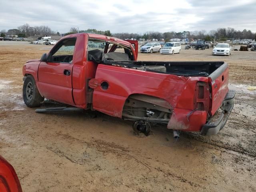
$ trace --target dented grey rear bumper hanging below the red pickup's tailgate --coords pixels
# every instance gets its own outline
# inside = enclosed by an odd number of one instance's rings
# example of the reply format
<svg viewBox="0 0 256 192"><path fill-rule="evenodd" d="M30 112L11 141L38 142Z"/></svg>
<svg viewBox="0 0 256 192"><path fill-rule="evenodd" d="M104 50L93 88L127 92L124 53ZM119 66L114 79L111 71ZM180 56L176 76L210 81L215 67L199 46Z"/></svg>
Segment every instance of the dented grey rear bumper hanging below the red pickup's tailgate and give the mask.
<svg viewBox="0 0 256 192"><path fill-rule="evenodd" d="M228 117L234 107L235 90L229 90L222 102L220 110L218 110L210 120L204 124L201 130L202 135L215 135L226 124Z"/></svg>

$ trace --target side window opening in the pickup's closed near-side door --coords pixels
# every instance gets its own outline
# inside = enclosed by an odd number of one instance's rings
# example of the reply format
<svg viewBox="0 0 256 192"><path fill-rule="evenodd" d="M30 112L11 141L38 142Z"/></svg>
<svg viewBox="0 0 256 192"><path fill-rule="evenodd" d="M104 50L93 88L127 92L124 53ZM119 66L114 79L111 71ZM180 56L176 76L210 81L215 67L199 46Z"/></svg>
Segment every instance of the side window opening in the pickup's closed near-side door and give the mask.
<svg viewBox="0 0 256 192"><path fill-rule="evenodd" d="M49 62L72 63L76 38L64 39L58 43L56 48L52 50L48 56Z"/></svg>

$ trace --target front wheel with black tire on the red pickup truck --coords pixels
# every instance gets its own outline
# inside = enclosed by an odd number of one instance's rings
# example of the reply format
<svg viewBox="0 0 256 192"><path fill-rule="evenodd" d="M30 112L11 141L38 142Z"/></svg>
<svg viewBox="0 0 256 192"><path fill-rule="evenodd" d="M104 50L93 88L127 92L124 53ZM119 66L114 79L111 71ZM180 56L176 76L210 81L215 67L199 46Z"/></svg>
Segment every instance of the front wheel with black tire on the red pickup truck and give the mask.
<svg viewBox="0 0 256 192"><path fill-rule="evenodd" d="M29 75L23 84L23 100L28 107L38 107L44 98L40 95L34 78Z"/></svg>

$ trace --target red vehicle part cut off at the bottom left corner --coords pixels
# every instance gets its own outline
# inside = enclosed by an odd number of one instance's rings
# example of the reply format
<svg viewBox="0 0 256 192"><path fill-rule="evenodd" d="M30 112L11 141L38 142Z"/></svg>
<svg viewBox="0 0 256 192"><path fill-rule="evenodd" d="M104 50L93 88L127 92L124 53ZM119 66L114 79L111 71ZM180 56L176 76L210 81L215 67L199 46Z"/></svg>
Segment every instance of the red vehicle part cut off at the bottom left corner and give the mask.
<svg viewBox="0 0 256 192"><path fill-rule="evenodd" d="M0 192L22 192L14 168L2 156L0 156Z"/></svg>

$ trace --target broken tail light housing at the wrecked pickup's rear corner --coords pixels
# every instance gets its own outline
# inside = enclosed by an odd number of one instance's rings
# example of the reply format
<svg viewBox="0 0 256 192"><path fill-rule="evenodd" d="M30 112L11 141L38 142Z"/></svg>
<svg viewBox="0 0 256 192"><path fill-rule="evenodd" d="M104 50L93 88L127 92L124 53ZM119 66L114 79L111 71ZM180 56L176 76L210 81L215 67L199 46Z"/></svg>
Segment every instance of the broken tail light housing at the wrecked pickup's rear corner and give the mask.
<svg viewBox="0 0 256 192"><path fill-rule="evenodd" d="M194 95L194 109L209 110L210 103L210 90L209 85L206 82L198 81L196 83L195 95Z"/></svg>

